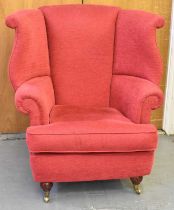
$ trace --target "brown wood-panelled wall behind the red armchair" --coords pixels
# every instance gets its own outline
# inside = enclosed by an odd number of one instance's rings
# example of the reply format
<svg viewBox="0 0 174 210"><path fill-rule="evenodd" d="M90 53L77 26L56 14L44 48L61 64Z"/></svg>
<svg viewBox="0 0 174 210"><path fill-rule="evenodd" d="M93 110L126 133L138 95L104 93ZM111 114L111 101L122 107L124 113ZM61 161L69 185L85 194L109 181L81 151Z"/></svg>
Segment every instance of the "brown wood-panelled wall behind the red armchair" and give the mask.
<svg viewBox="0 0 174 210"><path fill-rule="evenodd" d="M157 32L157 43L164 62L161 88L165 90L168 61L171 0L84 0L84 4L115 5L124 9L140 9L162 15L166 25ZM14 11L37 8L42 5L74 4L81 0L0 0L0 132L22 132L28 126L28 117L19 113L14 105L14 92L8 80L7 66L11 53L14 31L5 26L4 19ZM154 111L152 123L162 126L163 107Z"/></svg>

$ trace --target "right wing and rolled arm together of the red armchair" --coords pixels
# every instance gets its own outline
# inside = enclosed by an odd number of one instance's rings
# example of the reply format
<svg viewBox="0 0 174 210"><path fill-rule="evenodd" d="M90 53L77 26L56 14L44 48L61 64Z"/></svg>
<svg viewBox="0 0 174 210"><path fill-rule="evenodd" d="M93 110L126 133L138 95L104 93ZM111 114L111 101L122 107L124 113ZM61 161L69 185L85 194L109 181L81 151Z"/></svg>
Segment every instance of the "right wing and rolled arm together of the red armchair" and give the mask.
<svg viewBox="0 0 174 210"><path fill-rule="evenodd" d="M117 19L110 106L135 123L150 123L162 103L162 60L156 43L161 16L121 10Z"/></svg>

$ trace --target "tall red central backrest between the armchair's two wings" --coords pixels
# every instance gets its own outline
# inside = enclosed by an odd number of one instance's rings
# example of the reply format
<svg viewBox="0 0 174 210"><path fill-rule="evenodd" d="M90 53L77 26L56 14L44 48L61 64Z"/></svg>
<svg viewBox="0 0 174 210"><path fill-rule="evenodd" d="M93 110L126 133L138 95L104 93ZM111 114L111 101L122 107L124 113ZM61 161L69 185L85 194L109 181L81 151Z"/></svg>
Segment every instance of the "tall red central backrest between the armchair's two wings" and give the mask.
<svg viewBox="0 0 174 210"><path fill-rule="evenodd" d="M109 106L116 7L41 8L56 104Z"/></svg>

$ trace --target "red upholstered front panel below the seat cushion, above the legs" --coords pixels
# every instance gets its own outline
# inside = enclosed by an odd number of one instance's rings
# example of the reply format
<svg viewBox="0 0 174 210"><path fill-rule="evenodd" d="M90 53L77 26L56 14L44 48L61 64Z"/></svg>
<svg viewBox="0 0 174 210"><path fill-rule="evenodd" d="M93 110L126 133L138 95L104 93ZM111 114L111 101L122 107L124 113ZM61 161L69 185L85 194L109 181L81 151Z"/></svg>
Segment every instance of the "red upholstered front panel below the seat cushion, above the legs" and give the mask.
<svg viewBox="0 0 174 210"><path fill-rule="evenodd" d="M125 179L145 176L151 171L151 152L30 154L36 182L73 182Z"/></svg>

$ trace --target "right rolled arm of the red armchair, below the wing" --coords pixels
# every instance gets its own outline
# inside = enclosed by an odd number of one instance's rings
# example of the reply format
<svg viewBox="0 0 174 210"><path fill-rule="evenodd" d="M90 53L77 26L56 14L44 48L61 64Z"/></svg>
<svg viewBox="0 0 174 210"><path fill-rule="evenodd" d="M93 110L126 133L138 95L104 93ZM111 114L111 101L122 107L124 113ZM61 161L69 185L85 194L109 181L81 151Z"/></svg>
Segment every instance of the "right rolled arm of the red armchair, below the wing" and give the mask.
<svg viewBox="0 0 174 210"><path fill-rule="evenodd" d="M133 76L113 76L110 106L133 122L149 123L151 111L159 108L162 101L163 93L156 84Z"/></svg>

